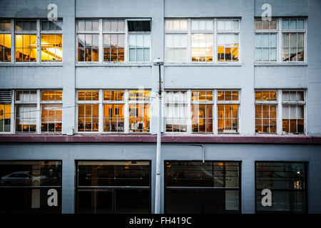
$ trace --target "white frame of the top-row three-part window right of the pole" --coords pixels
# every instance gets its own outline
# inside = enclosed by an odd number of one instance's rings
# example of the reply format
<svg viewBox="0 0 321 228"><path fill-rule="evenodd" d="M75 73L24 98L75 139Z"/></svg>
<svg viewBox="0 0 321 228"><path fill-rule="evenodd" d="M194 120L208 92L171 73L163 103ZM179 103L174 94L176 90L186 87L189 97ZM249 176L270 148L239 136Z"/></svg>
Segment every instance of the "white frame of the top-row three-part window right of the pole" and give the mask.
<svg viewBox="0 0 321 228"><path fill-rule="evenodd" d="M166 28L165 28L165 21L168 20L168 21L180 21L180 20L187 20L187 30L186 31L166 31ZM192 30L192 21L213 21L213 30L200 30L200 31L195 31L195 30ZM230 30L230 31L218 31L217 29L217 21L218 20L226 20L226 21L230 21L230 20L238 20L238 30ZM163 53L164 53L164 56L165 56L165 51L166 51L166 43L165 43L165 36L166 34L187 34L187 42L188 42L188 46L187 46L187 53L186 53L186 59L187 61L185 62L168 62L166 61L165 59L165 64L184 64L184 63L193 63L193 64L213 64L213 63L223 63L223 64L226 64L226 63L237 63L239 64L240 63L240 26L241 26L241 23L240 23L240 19L233 19L233 18L227 18L227 19L216 19L216 18L196 18L196 19L178 19L178 18L175 18L175 19L171 19L171 18L165 18L164 19L164 35L163 35L163 39L164 39L164 46L163 46ZM203 61L203 62L193 62L192 61L192 34L195 34L195 33L210 33L210 34L213 34L213 61L209 61L209 62L206 62L206 61ZM238 33L238 61L218 61L218 33Z"/></svg>

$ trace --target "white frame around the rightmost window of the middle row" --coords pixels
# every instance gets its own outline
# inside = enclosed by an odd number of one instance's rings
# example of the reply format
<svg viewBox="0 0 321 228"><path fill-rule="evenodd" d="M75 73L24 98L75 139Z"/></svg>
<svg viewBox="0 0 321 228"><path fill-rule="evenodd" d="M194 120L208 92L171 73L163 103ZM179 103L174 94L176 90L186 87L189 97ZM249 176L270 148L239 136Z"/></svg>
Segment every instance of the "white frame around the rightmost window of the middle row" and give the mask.
<svg viewBox="0 0 321 228"><path fill-rule="evenodd" d="M299 90L296 90L296 89L283 89L283 90L279 90L281 93L280 94L280 103L282 104L282 108L280 108L280 123L282 124L280 126L280 131L281 131L281 134L282 135L307 135L307 90L302 90L302 89L299 89ZM286 100L283 100L283 92L303 92L303 98L304 100L295 100L295 101L286 101ZM283 132L283 105L303 105L303 110L304 110L304 132L303 133L296 133L296 134L293 134L293 133L285 133ZM290 119L290 118L289 118Z"/></svg>

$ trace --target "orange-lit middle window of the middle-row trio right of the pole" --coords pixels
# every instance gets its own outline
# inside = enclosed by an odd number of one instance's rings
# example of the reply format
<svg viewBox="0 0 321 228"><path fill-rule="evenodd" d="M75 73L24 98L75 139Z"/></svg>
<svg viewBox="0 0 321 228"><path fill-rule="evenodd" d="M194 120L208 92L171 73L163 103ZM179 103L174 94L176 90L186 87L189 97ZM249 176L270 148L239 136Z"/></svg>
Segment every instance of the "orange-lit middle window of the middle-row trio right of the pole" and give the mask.
<svg viewBox="0 0 321 228"><path fill-rule="evenodd" d="M192 91L192 132L213 133L213 91Z"/></svg>

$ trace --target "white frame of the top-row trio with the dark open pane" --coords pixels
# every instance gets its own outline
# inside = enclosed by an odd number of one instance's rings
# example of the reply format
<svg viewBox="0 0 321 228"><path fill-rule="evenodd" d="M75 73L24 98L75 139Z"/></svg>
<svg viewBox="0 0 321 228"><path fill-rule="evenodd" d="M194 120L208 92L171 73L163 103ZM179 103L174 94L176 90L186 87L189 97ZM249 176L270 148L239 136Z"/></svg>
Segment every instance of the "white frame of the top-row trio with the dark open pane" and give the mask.
<svg viewBox="0 0 321 228"><path fill-rule="evenodd" d="M98 21L98 31L78 31L78 21ZM103 31L103 21L124 21L125 31ZM128 31L127 21L151 21L151 19L124 19L124 18L104 18L104 19L76 19L76 63L78 66L83 65L121 65L121 64L150 64L151 63L151 49L152 49L152 23L151 23L151 31ZM98 61L78 61L78 34L98 34L99 35L99 52L98 52ZM124 61L116 62L116 61L103 61L103 35L104 34L125 34L125 43L124 43ZM149 34L149 61L129 61L129 35L130 34Z"/></svg>

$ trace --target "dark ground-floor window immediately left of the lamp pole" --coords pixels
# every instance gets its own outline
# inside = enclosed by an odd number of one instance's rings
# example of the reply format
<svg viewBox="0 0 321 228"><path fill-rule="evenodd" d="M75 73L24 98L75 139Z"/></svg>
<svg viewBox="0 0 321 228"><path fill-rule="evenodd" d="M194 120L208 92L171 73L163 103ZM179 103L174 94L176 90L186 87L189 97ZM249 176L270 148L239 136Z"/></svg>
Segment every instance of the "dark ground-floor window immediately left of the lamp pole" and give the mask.
<svg viewBox="0 0 321 228"><path fill-rule="evenodd" d="M78 161L76 213L151 213L151 162Z"/></svg>

